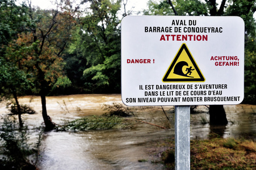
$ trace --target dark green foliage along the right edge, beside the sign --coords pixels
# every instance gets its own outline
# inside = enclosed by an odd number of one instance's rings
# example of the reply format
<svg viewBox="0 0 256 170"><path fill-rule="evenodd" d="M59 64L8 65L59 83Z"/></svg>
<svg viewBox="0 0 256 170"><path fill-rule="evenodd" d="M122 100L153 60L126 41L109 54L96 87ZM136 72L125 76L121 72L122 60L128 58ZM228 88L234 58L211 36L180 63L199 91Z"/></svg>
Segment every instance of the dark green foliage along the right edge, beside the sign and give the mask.
<svg viewBox="0 0 256 170"><path fill-rule="evenodd" d="M253 18L255 1L233 1L226 15L240 16L245 22L245 99L244 103L256 103L256 22Z"/></svg>

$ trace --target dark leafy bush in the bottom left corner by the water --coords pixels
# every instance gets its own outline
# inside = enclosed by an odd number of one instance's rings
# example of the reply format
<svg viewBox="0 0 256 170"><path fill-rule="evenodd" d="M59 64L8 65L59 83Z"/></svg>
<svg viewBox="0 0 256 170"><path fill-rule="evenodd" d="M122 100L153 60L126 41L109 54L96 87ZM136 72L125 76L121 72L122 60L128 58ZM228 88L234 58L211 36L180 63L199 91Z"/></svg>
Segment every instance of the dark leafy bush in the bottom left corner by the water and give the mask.
<svg viewBox="0 0 256 170"><path fill-rule="evenodd" d="M36 163L41 134L34 146L28 143L28 135L27 126L19 129L19 124L14 117L3 117L0 126L1 169L36 169L31 162Z"/></svg>

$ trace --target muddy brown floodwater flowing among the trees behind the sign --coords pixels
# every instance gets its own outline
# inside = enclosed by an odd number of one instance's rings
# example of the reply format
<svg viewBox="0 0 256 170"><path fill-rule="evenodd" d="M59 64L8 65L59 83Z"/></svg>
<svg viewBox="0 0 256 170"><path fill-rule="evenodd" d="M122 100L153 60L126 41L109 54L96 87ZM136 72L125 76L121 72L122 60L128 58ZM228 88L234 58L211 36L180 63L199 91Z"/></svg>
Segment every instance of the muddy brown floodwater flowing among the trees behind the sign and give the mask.
<svg viewBox="0 0 256 170"><path fill-rule="evenodd" d="M20 104L27 104L37 114L25 114L28 126L43 125L41 101L38 96L19 98ZM66 120L75 120L90 115L105 113L102 105L120 103L120 94L110 95L69 95L47 97L48 115L56 124ZM199 106L191 114L191 139L207 139L211 132L224 138L256 139L256 105L225 105L228 125L210 126L208 108ZM137 123L134 129L125 130L89 130L77 132L50 131L43 134L39 162L43 169L163 169L161 164L152 163L158 155L150 154L158 141L174 137L174 107L135 109L135 117L169 129ZM6 102L0 103L1 114L8 112ZM32 136L31 140L35 140ZM139 162L139 160L144 160Z"/></svg>

